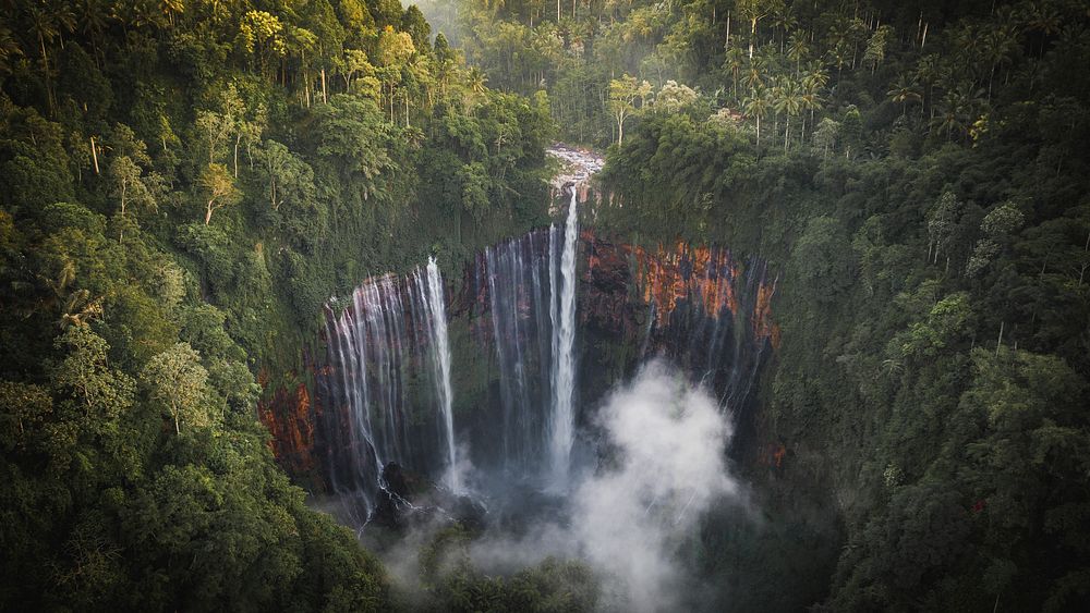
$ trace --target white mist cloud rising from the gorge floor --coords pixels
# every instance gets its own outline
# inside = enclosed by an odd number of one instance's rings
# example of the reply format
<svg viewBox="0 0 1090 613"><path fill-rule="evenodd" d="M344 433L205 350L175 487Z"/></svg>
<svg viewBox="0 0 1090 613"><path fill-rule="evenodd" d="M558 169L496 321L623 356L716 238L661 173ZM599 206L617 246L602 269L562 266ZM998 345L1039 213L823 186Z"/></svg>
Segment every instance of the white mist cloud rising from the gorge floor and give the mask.
<svg viewBox="0 0 1090 613"><path fill-rule="evenodd" d="M602 577L605 609L677 609L686 579L678 548L712 505L739 492L725 459L730 422L706 390L656 360L608 396L596 425L603 466L572 488L566 525L486 536L470 555L500 573L550 555L582 559Z"/></svg>

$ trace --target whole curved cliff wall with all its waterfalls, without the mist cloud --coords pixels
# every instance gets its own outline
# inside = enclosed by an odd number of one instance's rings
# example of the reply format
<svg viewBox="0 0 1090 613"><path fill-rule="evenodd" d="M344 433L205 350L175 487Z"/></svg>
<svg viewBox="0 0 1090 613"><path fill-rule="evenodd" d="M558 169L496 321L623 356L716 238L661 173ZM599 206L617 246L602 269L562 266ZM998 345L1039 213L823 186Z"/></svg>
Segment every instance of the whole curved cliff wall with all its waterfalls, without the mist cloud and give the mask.
<svg viewBox="0 0 1090 613"><path fill-rule="evenodd" d="M717 246L580 235L576 194L568 205L562 224L486 248L453 287L428 259L326 305L314 439L350 524L387 500L391 462L455 492L565 489L582 457L580 406L596 406L615 372L656 356L715 390L722 409L746 410L778 339L766 265ZM472 488L459 480L462 463Z"/></svg>

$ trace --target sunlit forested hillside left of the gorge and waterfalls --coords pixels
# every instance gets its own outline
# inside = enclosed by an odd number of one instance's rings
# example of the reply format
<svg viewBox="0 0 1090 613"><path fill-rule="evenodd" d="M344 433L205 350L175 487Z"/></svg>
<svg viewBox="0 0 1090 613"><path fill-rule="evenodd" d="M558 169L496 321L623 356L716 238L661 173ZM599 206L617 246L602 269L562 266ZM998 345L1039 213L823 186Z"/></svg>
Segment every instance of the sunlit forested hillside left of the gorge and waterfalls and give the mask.
<svg viewBox="0 0 1090 613"><path fill-rule="evenodd" d="M547 100L471 82L396 1L10 9L0 609L389 610L277 468L255 373L300 369L368 271L541 222ZM441 186L470 164L463 237Z"/></svg>

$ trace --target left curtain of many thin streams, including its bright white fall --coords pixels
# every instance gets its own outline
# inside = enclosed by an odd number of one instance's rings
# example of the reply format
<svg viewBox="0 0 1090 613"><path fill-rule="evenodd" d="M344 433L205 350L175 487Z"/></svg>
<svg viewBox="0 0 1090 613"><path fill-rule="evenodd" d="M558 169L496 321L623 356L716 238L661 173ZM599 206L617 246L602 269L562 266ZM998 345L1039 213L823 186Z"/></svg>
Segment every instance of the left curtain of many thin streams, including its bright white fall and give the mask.
<svg viewBox="0 0 1090 613"><path fill-rule="evenodd" d="M332 490L355 501L351 513L363 520L391 462L422 474L445 471L446 485L458 491L451 352L435 259L404 278L367 280L339 315L330 305L327 354L337 377L328 383L329 400L342 416L327 428Z"/></svg>

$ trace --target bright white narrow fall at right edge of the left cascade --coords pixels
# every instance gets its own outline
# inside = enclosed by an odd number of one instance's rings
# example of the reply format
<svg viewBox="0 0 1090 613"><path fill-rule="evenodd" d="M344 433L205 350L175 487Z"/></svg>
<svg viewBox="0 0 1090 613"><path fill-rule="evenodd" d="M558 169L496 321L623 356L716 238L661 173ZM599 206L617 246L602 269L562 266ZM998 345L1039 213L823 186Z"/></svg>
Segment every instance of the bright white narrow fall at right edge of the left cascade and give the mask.
<svg viewBox="0 0 1090 613"><path fill-rule="evenodd" d="M439 400L439 412L443 415L443 433L447 443L447 487L453 491L461 490L458 476L458 463L455 457L455 416L453 391L450 388L450 340L447 335L447 305L443 298L443 277L435 258L427 259L426 278L416 272L416 283L420 293L426 296L428 331L432 341L432 369L436 392Z"/></svg>

